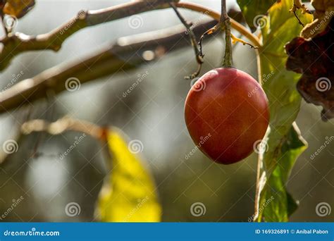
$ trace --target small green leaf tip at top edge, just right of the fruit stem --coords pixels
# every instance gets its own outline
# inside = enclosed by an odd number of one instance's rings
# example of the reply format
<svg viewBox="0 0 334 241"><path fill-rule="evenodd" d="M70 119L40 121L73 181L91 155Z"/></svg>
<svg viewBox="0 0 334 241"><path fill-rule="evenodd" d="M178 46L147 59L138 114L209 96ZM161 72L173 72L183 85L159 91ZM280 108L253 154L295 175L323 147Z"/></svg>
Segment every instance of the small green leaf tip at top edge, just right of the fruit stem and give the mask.
<svg viewBox="0 0 334 241"><path fill-rule="evenodd" d="M268 9L276 0L237 0L243 16L251 29L261 25L261 16L265 15Z"/></svg>

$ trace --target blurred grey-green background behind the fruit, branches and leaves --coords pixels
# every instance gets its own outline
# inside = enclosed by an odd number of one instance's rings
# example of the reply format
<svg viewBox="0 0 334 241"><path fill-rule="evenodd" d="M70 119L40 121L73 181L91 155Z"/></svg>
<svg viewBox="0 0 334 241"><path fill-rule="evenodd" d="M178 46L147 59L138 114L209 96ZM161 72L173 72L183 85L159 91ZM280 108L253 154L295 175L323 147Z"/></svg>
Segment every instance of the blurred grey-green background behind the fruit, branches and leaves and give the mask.
<svg viewBox="0 0 334 241"><path fill-rule="evenodd" d="M126 1L38 1L35 8L18 21L16 30L37 35L53 30L75 16L81 9L99 9ZM193 1L220 11L219 1ZM228 1L229 8L238 8ZM199 13L181 10L187 20L202 20ZM171 9L143 13L140 27L133 28L128 18L97 25L77 32L66 40L57 53L37 51L13 58L11 66L0 74L0 89L9 83L32 78L59 63L78 61L94 54L118 37L159 30L180 24ZM208 18L209 19L209 18ZM3 35L4 32L1 32ZM202 73L220 66L223 40L211 37L204 44L205 63ZM219 51L217 51L219 49ZM254 51L237 44L233 51L235 67L256 78ZM101 78L81 85L75 92L62 92L38 101L30 119L56 121L65 115L96 123L114 125L132 140L144 144L143 156L149 163L163 206L163 221L246 221L254 211L256 154L230 166L209 161L196 151L189 159L194 143L183 117L183 106L190 80L184 76L197 68L191 47L173 51L159 61L131 71ZM140 85L123 97L137 80ZM24 108L23 108L24 109ZM1 114L0 143L13 139L24 122L24 111ZM316 205L334 204L334 142L311 158L334 135L333 120L321 121L316 106L302 102L297 118L309 148L299 157L287 188L300 202L291 221L333 221L332 214L321 217ZM16 202L20 204L1 221L92 221L97 195L106 175L101 144L92 137L84 140L64 159L59 154L78 140L82 133L66 132L51 136L35 133L20 138L18 152L0 166L0 214ZM36 152L37 155L31 157ZM79 216L66 216L66 204L77 202ZM205 205L203 216L192 216L190 206Z"/></svg>

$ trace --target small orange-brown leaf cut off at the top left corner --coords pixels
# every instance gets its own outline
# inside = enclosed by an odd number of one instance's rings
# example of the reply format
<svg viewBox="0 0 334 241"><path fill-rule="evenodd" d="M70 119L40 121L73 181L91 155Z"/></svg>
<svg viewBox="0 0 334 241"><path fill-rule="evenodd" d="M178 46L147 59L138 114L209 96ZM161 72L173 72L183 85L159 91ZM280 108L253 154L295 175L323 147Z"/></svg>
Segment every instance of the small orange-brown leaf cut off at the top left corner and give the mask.
<svg viewBox="0 0 334 241"><path fill-rule="evenodd" d="M35 5L35 0L7 0L3 12L21 18Z"/></svg>

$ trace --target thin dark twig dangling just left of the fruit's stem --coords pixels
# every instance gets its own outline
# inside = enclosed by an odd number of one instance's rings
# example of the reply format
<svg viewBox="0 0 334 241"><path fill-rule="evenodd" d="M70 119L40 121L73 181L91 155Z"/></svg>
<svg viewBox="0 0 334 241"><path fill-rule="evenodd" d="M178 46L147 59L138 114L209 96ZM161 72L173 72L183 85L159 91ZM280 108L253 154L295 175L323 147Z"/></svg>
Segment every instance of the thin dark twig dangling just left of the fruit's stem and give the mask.
<svg viewBox="0 0 334 241"><path fill-rule="evenodd" d="M196 72L192 73L192 75L185 76L185 79L191 80L193 78L196 78L199 75L201 68L202 68L202 64L204 63L204 60L203 60L204 55L202 54L202 42L201 42L201 46L199 46L199 44L197 43L196 36L194 35L194 32L192 32L192 24L187 23L187 20L183 18L181 13L178 11L178 8L175 6L175 4L171 3L170 5L175 11L176 16L178 16L178 18L180 19L181 23L185 25L185 28L187 29L187 34L189 35L190 41L192 42L192 47L194 48L194 53L196 56L198 67L197 67Z"/></svg>

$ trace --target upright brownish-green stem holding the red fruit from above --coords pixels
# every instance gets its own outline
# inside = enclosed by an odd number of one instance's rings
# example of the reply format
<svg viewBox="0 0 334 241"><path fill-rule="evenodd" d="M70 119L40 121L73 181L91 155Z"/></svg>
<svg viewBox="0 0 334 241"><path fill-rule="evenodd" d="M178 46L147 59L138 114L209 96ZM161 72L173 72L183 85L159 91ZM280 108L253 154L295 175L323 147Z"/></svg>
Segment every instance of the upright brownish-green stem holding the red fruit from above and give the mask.
<svg viewBox="0 0 334 241"><path fill-rule="evenodd" d="M226 0L221 0L221 30L225 29L225 56L223 67L232 67L231 22L226 9Z"/></svg>

